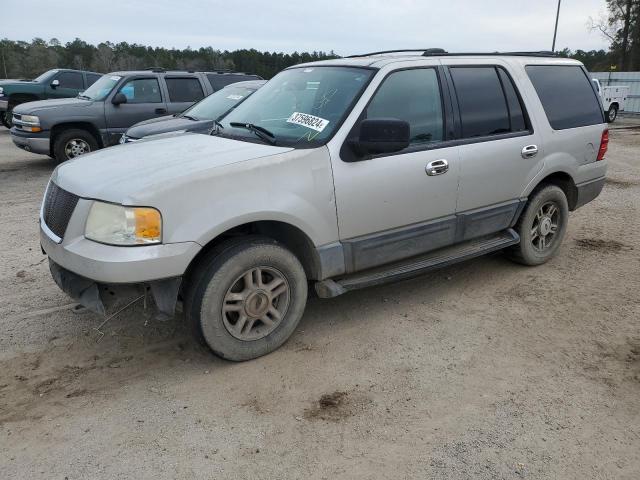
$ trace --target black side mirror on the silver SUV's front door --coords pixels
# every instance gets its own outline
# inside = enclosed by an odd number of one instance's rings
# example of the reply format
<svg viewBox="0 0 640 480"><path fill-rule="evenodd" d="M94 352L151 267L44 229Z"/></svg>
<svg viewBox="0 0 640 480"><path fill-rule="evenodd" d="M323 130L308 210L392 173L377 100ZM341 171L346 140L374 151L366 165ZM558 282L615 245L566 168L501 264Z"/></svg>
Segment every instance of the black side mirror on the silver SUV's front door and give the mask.
<svg viewBox="0 0 640 480"><path fill-rule="evenodd" d="M360 135L350 141L359 156L399 152L409 146L409 122L396 118L375 118L360 123Z"/></svg>

